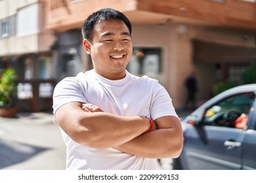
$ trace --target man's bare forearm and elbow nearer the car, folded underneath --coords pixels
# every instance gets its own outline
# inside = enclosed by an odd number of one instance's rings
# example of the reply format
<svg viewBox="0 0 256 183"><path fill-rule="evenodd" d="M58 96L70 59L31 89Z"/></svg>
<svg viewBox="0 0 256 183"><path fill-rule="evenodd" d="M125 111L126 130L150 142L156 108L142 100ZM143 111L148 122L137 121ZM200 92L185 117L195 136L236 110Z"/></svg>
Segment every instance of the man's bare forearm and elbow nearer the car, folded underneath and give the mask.
<svg viewBox="0 0 256 183"><path fill-rule="evenodd" d="M144 158L177 158L183 145L182 128L178 118L166 116L156 121L160 129L142 134L114 148Z"/></svg>

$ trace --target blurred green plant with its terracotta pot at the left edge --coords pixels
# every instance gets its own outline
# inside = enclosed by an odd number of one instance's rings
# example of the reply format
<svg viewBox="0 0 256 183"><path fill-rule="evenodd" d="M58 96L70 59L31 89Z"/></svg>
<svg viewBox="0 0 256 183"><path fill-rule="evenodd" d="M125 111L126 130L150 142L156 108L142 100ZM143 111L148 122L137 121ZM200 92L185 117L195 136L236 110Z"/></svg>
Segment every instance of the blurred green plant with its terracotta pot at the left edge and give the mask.
<svg viewBox="0 0 256 183"><path fill-rule="evenodd" d="M3 70L0 76L0 116L12 118L17 112L17 81L14 69Z"/></svg>

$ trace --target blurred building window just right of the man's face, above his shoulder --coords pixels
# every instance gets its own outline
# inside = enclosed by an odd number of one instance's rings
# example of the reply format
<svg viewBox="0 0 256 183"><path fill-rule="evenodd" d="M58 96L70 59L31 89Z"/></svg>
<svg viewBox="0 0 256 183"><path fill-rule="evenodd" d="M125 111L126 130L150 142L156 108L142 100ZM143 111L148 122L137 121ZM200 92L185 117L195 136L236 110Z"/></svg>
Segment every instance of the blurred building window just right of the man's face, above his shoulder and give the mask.
<svg viewBox="0 0 256 183"><path fill-rule="evenodd" d="M133 48L133 56L127 70L137 76L161 75L161 48Z"/></svg>

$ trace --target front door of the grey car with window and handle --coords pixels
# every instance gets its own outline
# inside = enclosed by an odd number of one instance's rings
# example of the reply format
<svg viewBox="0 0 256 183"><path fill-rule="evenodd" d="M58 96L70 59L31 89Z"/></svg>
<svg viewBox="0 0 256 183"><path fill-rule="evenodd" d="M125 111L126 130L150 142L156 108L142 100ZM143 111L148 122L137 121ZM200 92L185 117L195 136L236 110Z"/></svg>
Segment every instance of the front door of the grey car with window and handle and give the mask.
<svg viewBox="0 0 256 183"><path fill-rule="evenodd" d="M240 93L205 107L200 124L190 125L184 134L188 169L242 169L246 130L232 123L241 114L250 115L254 99L254 93Z"/></svg>

